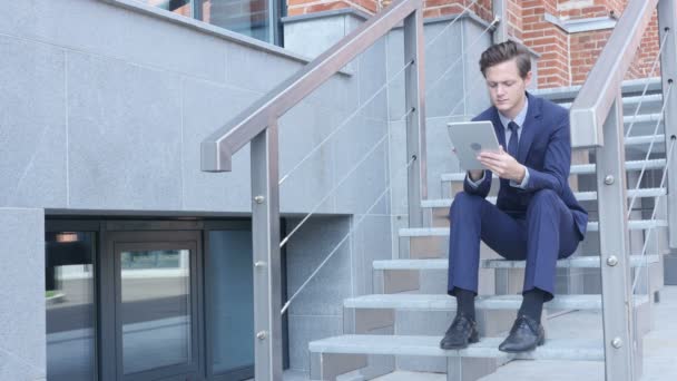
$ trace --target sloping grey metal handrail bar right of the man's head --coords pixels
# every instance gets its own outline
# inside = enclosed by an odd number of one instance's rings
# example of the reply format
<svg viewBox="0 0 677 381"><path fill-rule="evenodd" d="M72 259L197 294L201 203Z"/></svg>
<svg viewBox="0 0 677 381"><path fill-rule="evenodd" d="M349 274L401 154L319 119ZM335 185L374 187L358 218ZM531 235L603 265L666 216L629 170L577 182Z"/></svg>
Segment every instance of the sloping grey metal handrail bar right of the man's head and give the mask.
<svg viewBox="0 0 677 381"><path fill-rule="evenodd" d="M571 146L604 146L602 125L658 0L630 0L570 110Z"/></svg>

